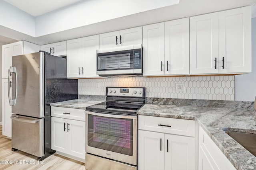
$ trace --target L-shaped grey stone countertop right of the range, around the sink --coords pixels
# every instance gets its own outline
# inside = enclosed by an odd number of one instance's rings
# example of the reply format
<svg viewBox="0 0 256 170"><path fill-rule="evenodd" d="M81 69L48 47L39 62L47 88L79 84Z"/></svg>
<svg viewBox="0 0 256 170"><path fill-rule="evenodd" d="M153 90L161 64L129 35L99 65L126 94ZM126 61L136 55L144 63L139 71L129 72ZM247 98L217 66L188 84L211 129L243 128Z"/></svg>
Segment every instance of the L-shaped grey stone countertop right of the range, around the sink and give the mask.
<svg viewBox="0 0 256 170"><path fill-rule="evenodd" d="M196 120L236 169L256 169L256 157L223 131L256 134L254 109L145 104L138 115Z"/></svg>

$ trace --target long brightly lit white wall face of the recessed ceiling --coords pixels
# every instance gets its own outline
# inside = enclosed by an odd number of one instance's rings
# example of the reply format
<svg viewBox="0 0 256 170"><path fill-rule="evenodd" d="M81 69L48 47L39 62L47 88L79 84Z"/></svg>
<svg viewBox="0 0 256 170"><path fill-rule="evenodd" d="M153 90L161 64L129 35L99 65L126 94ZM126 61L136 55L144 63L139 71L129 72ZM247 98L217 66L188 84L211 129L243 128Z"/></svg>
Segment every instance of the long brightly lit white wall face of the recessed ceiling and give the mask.
<svg viewBox="0 0 256 170"><path fill-rule="evenodd" d="M36 36L129 16L178 2L179 0L84 0L37 16ZM116 23L118 24L121 23Z"/></svg>

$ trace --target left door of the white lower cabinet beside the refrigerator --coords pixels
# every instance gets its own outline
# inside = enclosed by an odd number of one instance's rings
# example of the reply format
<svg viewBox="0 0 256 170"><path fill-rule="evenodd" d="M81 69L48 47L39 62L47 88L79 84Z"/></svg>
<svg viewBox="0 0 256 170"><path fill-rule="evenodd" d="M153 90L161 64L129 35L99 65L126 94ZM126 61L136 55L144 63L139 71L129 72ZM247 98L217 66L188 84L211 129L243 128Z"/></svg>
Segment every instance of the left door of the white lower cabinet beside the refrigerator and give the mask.
<svg viewBox="0 0 256 170"><path fill-rule="evenodd" d="M67 119L52 117L52 149L68 152Z"/></svg>

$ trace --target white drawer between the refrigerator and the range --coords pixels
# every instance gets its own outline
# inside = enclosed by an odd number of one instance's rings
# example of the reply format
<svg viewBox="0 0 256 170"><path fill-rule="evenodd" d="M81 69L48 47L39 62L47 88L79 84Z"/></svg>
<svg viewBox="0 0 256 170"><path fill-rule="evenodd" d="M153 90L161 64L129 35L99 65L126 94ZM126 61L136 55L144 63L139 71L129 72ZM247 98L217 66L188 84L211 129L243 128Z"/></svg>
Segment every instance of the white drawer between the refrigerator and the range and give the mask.
<svg viewBox="0 0 256 170"><path fill-rule="evenodd" d="M52 116L85 121L85 109L52 106Z"/></svg>

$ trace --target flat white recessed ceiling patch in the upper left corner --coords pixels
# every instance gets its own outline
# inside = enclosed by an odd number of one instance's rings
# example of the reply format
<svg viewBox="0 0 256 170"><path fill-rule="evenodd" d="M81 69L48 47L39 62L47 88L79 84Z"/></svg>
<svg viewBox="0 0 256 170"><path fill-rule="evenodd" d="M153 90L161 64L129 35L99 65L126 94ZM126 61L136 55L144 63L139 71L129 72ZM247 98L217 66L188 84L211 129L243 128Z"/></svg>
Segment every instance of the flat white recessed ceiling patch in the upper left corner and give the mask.
<svg viewBox="0 0 256 170"><path fill-rule="evenodd" d="M19 8L20 10L32 15L40 16L82 0L4 0Z"/></svg>

